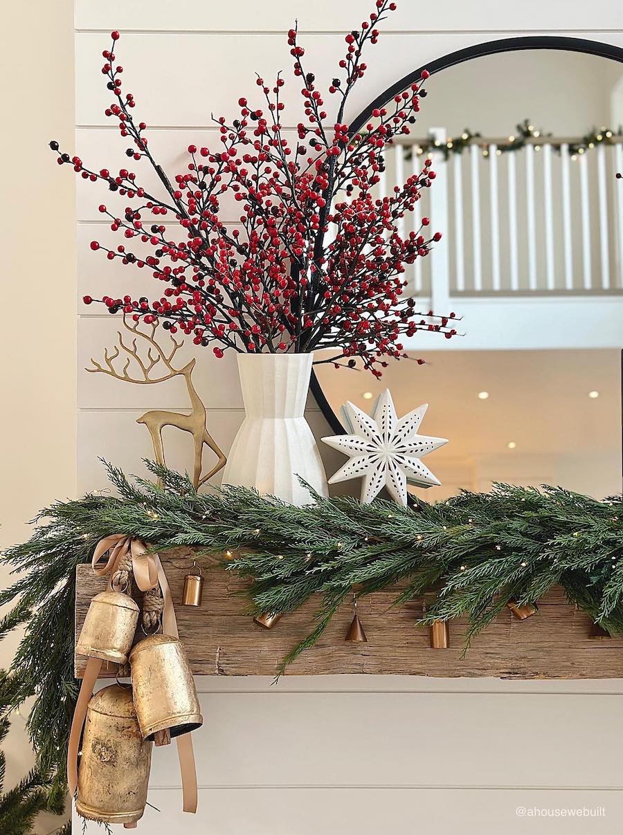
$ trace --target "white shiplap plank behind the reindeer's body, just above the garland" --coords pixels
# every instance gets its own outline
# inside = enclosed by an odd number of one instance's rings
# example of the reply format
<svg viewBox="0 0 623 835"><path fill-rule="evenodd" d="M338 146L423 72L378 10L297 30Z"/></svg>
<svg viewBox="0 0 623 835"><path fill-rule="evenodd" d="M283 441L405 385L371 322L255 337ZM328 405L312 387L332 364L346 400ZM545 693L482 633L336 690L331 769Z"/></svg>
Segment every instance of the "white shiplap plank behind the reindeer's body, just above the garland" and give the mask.
<svg viewBox="0 0 623 835"><path fill-rule="evenodd" d="M119 383L121 386L122 383ZM137 386L138 388L138 386ZM312 400L311 400L312 402ZM183 404L178 403L177 406ZM121 466L126 473L149 476L144 468L144 458L154 458L147 429L136 423L144 410L81 410L78 414L78 491L88 493L94 490L108 490L110 483L100 458L115 466ZM317 407L306 412L316 438L329 433L322 412ZM236 432L244 419L242 409L209 409L208 432L223 450L229 452ZM192 472L192 441L188 433L165 428L165 455L168 465L179 473ZM337 470L339 453L320 445L322 459L327 473ZM216 462L215 455L204 448L204 470L207 472ZM216 473L210 484L220 484L222 473Z"/></svg>

